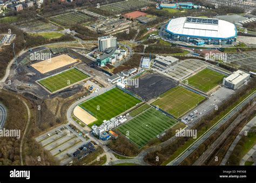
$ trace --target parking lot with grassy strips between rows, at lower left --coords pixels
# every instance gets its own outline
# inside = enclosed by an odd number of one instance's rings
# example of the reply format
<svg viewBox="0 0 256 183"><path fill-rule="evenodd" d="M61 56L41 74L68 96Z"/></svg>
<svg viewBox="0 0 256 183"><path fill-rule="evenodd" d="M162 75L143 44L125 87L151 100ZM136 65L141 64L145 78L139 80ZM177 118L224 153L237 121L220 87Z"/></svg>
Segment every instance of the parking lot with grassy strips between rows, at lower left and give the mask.
<svg viewBox="0 0 256 183"><path fill-rule="evenodd" d="M60 161L60 165L69 163L73 152L87 142L84 134L69 125L58 126L35 139Z"/></svg>

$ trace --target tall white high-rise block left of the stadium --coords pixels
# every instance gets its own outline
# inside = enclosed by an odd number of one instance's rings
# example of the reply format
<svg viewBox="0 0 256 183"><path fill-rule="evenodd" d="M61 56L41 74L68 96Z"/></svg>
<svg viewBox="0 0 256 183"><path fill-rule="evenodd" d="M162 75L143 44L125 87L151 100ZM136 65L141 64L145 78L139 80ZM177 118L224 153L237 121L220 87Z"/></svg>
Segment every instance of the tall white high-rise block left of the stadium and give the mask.
<svg viewBox="0 0 256 183"><path fill-rule="evenodd" d="M104 52L107 48L117 47L117 38L113 36L98 37L99 51Z"/></svg>

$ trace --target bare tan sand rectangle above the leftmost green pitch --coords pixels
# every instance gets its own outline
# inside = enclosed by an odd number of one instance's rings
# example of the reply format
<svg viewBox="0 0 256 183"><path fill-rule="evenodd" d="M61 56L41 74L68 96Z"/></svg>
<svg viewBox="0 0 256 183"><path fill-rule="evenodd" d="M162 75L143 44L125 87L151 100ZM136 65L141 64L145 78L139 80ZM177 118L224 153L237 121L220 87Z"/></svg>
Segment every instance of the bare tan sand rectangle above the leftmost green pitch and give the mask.
<svg viewBox="0 0 256 183"><path fill-rule="evenodd" d="M74 64L77 62L76 59L69 57L69 55L62 54L57 57L53 57L51 59L47 59L41 62L37 62L36 64L32 64L31 67L35 68L42 74L48 73L55 69Z"/></svg>

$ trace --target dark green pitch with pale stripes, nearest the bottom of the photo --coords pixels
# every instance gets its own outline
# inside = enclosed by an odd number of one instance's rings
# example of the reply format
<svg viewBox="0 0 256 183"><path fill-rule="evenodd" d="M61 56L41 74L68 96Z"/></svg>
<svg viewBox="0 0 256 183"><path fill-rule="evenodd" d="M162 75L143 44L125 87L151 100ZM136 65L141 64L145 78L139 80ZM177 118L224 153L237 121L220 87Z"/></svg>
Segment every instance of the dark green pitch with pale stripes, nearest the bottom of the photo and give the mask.
<svg viewBox="0 0 256 183"><path fill-rule="evenodd" d="M159 110L150 108L131 119L131 121L119 126L117 130L133 143L142 147L175 123L177 123L176 119L164 115Z"/></svg>

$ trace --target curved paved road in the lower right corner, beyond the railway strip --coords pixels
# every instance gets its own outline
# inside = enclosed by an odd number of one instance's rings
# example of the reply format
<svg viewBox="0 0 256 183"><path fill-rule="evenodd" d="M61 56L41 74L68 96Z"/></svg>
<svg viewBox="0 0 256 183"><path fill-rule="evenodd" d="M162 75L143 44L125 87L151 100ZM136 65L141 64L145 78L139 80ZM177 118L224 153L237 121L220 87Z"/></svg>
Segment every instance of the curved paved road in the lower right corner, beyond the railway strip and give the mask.
<svg viewBox="0 0 256 183"><path fill-rule="evenodd" d="M254 118L252 118L252 120L250 122L248 122L244 126L244 128L242 128L242 130L239 132L238 136L235 137L233 143L231 144L230 148L228 149L227 153L225 154L225 157L221 161L220 165L226 165L228 158L230 158L230 155L234 150L234 147L237 145L237 143L242 138L242 136L245 135L245 131L250 130L252 128L252 126L254 126L254 125L256 125L256 116Z"/></svg>

